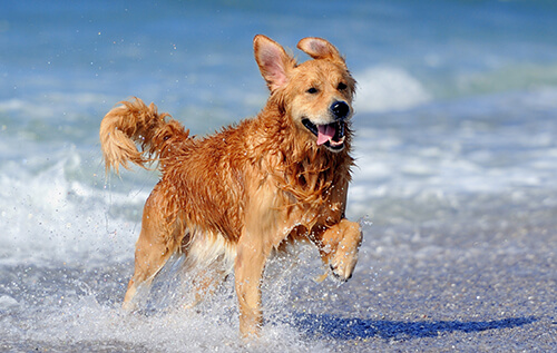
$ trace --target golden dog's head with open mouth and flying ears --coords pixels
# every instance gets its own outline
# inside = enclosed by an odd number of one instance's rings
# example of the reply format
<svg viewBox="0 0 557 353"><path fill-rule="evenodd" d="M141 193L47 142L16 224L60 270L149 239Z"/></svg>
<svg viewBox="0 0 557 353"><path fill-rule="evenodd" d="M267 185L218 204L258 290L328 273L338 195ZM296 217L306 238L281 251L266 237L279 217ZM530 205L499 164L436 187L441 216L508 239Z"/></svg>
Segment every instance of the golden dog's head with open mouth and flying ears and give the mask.
<svg viewBox="0 0 557 353"><path fill-rule="evenodd" d="M272 97L317 146L340 151L349 137L355 80L329 41L309 37L297 48L313 60L297 65L277 42L261 35L254 38L255 60Z"/></svg>

